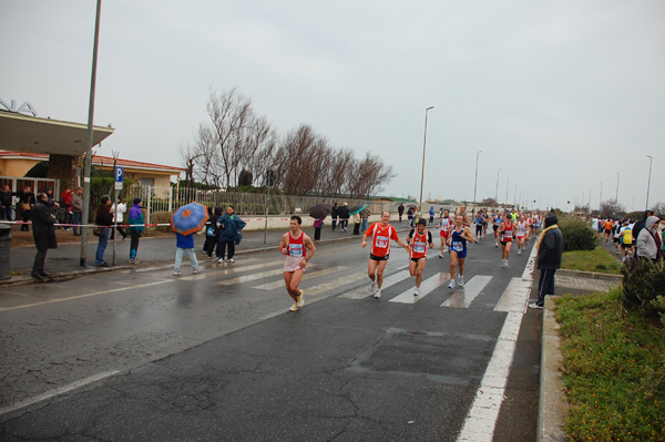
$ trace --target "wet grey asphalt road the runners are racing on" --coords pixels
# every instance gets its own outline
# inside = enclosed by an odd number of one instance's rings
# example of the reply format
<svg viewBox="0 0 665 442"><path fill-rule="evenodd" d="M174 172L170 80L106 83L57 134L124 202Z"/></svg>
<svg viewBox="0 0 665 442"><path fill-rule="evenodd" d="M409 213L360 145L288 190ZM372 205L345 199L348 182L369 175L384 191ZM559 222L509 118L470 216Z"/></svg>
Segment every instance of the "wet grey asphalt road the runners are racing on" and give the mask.
<svg viewBox="0 0 665 442"><path fill-rule="evenodd" d="M493 241L470 246L469 296L474 277L488 282L468 305L434 253L433 289L411 304L398 247L395 284L367 296L358 240L319 246L296 313L275 251L200 275L155 265L3 288L0 436L457 440L507 319L495 308L532 244L508 269ZM523 316L495 441L535 440L541 320Z"/></svg>

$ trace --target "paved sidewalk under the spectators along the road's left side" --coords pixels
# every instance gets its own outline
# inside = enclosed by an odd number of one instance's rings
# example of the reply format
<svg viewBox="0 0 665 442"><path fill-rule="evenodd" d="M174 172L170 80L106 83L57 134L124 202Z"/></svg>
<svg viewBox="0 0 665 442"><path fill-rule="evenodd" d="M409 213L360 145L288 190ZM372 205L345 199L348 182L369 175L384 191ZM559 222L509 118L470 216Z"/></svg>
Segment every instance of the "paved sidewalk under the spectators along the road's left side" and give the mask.
<svg viewBox="0 0 665 442"><path fill-rule="evenodd" d="M391 222L398 232L408 230L408 224L403 220L401 224L397 220ZM303 229L310 238L314 239L314 228L305 227ZM332 232L330 227L324 228L321 232L321 240L315 243L317 246L325 245L326 243L339 241L339 240L357 240L358 247L362 236L354 235L352 225L347 232L340 232L339 229ZM236 246L236 256L243 256L247 254L275 250L279 246L282 235L288 229L268 229L264 230L248 230L243 232L243 240ZM85 247L85 264L81 266L81 237L73 236L71 230L59 229L55 230L58 236L58 248L50 249L47 255L45 270L51 274L51 278L43 282L66 280L76 278L85 274L94 274L102 271L114 271L114 270L126 270L131 268L146 268L155 266L170 266L173 265L175 259L175 234L165 234L164 236L149 236L141 238L139 244L139 258L141 264L133 265L129 264L130 257L130 238L122 239L122 236L116 233L115 240L115 265L113 265L113 240L109 239L104 258L111 267L98 267L94 265L94 256L96 250L98 239L90 235L88 237L88 245ZM161 234L160 234L161 235ZM13 286L13 285L25 285L38 282L30 276L32 270L32 263L37 249L34 248L34 241L32 239L32 232L20 232L18 226L14 226L11 230L12 238L10 239L20 244L18 247L10 249L10 279L0 280L0 287ZM403 235L400 235L403 236ZM265 237L265 239L264 239ZM265 246L264 246L265 240ZM214 259L207 259L206 255L202 253L203 244L205 241L204 233L200 233L195 236L195 250L198 264L203 267L207 265L217 264ZM369 253L369 251L368 251ZM184 259L185 267L188 266L188 260ZM42 281L39 281L42 282Z"/></svg>

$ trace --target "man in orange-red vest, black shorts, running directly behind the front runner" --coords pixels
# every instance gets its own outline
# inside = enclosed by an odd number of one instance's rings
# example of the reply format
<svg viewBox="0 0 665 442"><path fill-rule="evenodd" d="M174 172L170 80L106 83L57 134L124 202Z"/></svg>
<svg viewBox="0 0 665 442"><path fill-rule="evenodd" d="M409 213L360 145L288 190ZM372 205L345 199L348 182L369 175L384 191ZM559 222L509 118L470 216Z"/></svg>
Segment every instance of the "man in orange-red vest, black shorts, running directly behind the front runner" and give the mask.
<svg viewBox="0 0 665 442"><path fill-rule="evenodd" d="M369 251L369 264L367 266L367 275L371 279L369 292L375 294L375 298L381 297L381 286L383 285L383 270L390 257L390 240L396 241L407 250L409 246L397 236L397 230L390 224L390 213L381 213L381 222L374 223L362 234L362 248L367 246L367 237L372 236L371 249Z"/></svg>

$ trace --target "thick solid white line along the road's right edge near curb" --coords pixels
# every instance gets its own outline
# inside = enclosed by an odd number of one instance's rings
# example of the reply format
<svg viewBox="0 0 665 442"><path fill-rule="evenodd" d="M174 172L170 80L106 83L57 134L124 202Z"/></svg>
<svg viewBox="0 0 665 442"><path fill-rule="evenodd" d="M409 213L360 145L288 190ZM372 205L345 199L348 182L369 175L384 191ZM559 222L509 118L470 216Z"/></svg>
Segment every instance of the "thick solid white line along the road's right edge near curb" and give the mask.
<svg viewBox="0 0 665 442"><path fill-rule="evenodd" d="M531 269L533 269L535 253L536 249L533 247L528 267L522 274L522 279L532 278L528 271L530 271L530 265ZM513 296L526 297L529 299L531 284L529 284L528 288L523 286L520 288L522 294ZM469 414L467 414L467 419L464 420L462 431L458 436L459 442L492 442L497 419L499 418L499 411L505 395L505 384L508 383L508 376L510 374L510 367L513 361L523 316L524 311L511 311L505 317L503 328L492 352L492 358L488 363Z"/></svg>

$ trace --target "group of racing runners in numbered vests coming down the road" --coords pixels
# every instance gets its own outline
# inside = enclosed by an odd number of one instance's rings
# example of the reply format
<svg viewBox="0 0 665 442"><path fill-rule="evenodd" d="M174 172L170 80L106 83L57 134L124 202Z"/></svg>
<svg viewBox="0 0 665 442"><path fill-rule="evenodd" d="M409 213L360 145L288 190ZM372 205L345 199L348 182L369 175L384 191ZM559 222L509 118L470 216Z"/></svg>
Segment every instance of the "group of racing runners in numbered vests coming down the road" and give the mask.
<svg viewBox="0 0 665 442"><path fill-rule="evenodd" d="M512 243L518 243L518 254L521 254L526 248L529 238L535 237L541 228L542 216L538 213L522 214L515 210L488 214L487 209L481 209L474 216L474 237L471 232L471 217L467 213L466 206L461 206L453 216L450 215L448 209L442 210L438 225L440 236L439 257L443 258L446 253L450 253L450 281L448 288L456 287L456 275L458 276L457 285L460 287L464 285L464 260L468 244L483 240L490 223L494 230L495 247L501 244L502 266L508 267ZM280 253L286 256L284 264L286 290L294 301L290 311L298 311L305 304L305 294L299 288L299 284L307 269L307 263L316 253L314 241L300 229L301 224L303 219L299 216L291 216L290 229L283 235L279 244ZM383 212L381 213L381 220L374 223L362 234L362 248L368 246L370 237L371 247L367 268L367 275L370 279L369 292L374 294L377 299L381 298L383 271L390 258L391 241L395 241L409 254L409 273L416 277L413 296L420 296L420 284L427 264L428 249L433 249L436 246L431 232L427 229L427 220L419 219L407 235L406 241L403 241L399 238L397 229L390 225L390 213Z"/></svg>

